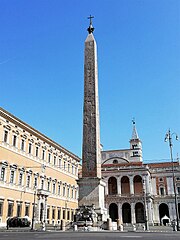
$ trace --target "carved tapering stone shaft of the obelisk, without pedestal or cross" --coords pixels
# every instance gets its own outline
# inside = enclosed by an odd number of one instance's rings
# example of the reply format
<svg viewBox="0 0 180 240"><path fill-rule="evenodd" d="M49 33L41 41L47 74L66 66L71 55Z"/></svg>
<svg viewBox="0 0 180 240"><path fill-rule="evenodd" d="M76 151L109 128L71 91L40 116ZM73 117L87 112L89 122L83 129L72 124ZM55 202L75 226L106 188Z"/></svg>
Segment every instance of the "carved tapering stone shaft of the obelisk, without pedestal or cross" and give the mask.
<svg viewBox="0 0 180 240"><path fill-rule="evenodd" d="M83 177L101 177L96 42L88 35L84 63Z"/></svg>

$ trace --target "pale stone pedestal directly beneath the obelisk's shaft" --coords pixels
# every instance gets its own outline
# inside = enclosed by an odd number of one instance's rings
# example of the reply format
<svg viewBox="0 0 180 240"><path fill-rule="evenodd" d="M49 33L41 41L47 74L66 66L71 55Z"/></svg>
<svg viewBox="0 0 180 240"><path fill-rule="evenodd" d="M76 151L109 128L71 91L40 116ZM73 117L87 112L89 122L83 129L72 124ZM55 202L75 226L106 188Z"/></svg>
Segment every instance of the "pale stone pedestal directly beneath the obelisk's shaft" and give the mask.
<svg viewBox="0 0 180 240"><path fill-rule="evenodd" d="M107 220L107 209L104 206L104 190L106 183L99 178L85 177L78 180L79 206L94 205L100 221Z"/></svg>

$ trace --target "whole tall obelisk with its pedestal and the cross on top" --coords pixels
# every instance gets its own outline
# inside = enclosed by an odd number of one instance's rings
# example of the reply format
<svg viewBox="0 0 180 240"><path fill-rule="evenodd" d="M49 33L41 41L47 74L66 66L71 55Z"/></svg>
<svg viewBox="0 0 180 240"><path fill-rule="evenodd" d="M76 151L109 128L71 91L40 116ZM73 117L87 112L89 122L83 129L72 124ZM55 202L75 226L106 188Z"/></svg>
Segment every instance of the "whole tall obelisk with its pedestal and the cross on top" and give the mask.
<svg viewBox="0 0 180 240"><path fill-rule="evenodd" d="M93 36L92 16L84 50L84 109L82 178L79 179L79 206L94 205L96 213L106 218L105 183L101 179L101 147L98 99L97 46Z"/></svg>

